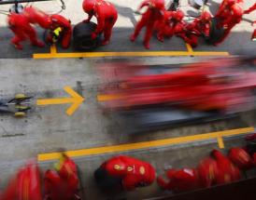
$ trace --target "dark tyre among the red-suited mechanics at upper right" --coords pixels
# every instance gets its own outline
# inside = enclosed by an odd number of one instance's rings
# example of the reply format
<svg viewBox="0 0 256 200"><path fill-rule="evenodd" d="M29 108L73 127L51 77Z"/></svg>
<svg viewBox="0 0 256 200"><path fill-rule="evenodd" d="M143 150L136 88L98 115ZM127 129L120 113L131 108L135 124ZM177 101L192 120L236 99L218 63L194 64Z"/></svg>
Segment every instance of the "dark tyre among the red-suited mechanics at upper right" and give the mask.
<svg viewBox="0 0 256 200"><path fill-rule="evenodd" d="M213 18L211 19L211 24L210 24L210 34L208 37L205 37L206 43L213 45L217 43L222 35L224 34L224 29L223 28L218 28L217 27L218 20Z"/></svg>

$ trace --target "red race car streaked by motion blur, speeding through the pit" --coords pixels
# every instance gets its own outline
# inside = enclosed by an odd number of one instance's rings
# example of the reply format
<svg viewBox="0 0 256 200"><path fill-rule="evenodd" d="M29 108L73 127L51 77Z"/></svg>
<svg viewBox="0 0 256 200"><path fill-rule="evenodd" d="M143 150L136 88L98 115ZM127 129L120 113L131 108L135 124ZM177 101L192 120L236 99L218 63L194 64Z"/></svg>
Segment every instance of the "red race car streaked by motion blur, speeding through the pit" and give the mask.
<svg viewBox="0 0 256 200"><path fill-rule="evenodd" d="M121 114L132 131L229 117L254 109L255 58L187 65L101 66L105 109Z"/></svg>

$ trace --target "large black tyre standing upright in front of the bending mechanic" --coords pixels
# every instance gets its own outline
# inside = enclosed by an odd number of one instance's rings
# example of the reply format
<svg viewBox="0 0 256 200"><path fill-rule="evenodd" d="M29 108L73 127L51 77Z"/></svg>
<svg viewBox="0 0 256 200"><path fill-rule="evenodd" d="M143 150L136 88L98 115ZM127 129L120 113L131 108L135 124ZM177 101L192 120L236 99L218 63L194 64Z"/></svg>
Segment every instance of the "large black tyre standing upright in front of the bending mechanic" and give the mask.
<svg viewBox="0 0 256 200"><path fill-rule="evenodd" d="M78 51L90 51L99 46L100 35L92 39L91 35L95 31L97 24L93 22L79 22L73 31L74 47Z"/></svg>

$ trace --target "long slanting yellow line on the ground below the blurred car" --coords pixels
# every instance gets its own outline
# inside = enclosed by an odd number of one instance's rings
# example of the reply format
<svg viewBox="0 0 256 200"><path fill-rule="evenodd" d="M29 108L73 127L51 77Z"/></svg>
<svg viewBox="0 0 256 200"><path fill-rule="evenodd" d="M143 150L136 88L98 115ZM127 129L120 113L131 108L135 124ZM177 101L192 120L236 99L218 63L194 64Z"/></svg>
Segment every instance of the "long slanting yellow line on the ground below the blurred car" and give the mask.
<svg viewBox="0 0 256 200"><path fill-rule="evenodd" d="M164 147L179 143L186 143L186 142L193 142L199 140L211 140L211 139L219 139L220 137L228 137L228 136L235 136L241 134L247 134L254 131L254 127L244 127L232 130L224 130L206 134L198 134L193 136L185 136L185 137L178 137L178 138L171 138L171 139L164 139L164 140L149 140L149 141L142 141L136 143L128 143L128 144L120 144L120 145L113 145L113 146L104 146L104 147L96 147L91 149L83 149L83 150L75 150L75 151L67 151L67 155L70 157L80 157L80 156L89 156L95 154L103 154L103 153L120 153L126 151L135 151L135 150L143 150L149 148L158 148ZM221 147L221 141L219 143ZM37 160L39 162L42 161L49 161L49 160L56 160L60 156L60 153L41 153L37 155Z"/></svg>

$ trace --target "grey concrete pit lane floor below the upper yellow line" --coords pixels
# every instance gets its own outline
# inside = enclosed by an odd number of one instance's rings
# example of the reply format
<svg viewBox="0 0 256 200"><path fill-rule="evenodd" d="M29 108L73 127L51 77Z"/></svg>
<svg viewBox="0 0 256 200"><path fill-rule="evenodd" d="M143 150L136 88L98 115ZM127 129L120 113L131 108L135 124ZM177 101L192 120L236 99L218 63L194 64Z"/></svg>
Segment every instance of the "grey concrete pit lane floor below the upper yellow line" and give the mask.
<svg viewBox="0 0 256 200"><path fill-rule="evenodd" d="M205 58L208 59L208 58ZM166 64L190 62L199 58L140 58L148 64ZM83 187L87 199L140 199L164 194L156 184L149 188L137 190L133 193L104 194L95 189L92 180L93 170L114 154L130 154L152 163L158 173L163 173L164 167L190 167L194 166L201 157L208 154L213 148L219 148L220 141L214 139L195 140L185 143L166 143L144 149L132 148L136 142L149 142L151 140L171 140L175 138L194 137L194 135L223 131L236 128L249 127L244 132L250 133L255 127L255 112L244 113L234 118L210 122L206 124L170 128L163 131L143 133L136 135L125 134L120 129L118 119L110 117L99 106L97 101L99 77L96 75L96 65L102 59L77 60L0 60L0 97L7 99L16 93L25 93L37 99L52 99L67 97L64 87L72 87L85 98L78 110L67 115L65 110L70 106L48 105L35 106L27 117L17 119L12 115L0 116L0 172L1 188L7 184L7 179L15 169L27 159L42 153L59 152L60 148L67 151L108 147L126 144L128 151L119 149L114 153L80 155L76 157L78 167L81 169ZM107 60L104 60L105 62ZM114 123L113 123L114 121ZM232 131L234 133L234 131ZM242 136L224 138L226 151L230 146L242 145ZM221 147L221 145L220 145ZM113 151L112 151L113 152ZM166 159L168 158L168 159ZM43 169L52 166L50 160L40 160Z"/></svg>

